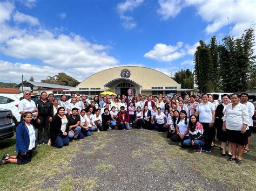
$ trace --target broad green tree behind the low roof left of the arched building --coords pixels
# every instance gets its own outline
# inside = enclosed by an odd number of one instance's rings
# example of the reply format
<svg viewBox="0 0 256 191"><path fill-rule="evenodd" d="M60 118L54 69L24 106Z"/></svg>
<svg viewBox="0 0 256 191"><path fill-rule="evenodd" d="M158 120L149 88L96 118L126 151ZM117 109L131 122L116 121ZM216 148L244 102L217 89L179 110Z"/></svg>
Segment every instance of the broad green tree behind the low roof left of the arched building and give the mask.
<svg viewBox="0 0 256 191"><path fill-rule="evenodd" d="M80 83L76 79L73 79L73 77L66 75L65 73L58 73L55 76L48 76L45 80L41 80L41 82L72 87L75 87Z"/></svg>

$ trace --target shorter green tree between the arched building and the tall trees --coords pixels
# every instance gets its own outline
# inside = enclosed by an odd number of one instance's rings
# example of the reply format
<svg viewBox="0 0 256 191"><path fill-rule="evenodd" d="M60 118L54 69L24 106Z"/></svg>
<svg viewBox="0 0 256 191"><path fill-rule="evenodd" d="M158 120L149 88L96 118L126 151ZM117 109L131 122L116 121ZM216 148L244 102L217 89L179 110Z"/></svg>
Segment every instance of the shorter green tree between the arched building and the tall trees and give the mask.
<svg viewBox="0 0 256 191"><path fill-rule="evenodd" d="M176 72L174 75L174 80L181 84L181 88L194 88L194 74L190 71L190 69L181 69L179 72Z"/></svg>

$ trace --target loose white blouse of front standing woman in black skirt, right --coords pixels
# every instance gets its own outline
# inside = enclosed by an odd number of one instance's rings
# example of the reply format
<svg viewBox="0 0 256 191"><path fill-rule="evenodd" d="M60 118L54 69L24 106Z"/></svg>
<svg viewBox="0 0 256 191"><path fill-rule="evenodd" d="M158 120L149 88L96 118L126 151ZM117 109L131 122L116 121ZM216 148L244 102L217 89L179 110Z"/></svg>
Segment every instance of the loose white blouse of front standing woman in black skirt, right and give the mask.
<svg viewBox="0 0 256 191"><path fill-rule="evenodd" d="M238 103L233 109L232 104L228 105L223 121L226 121L226 128L228 130L240 131L243 124L250 124L246 105Z"/></svg>

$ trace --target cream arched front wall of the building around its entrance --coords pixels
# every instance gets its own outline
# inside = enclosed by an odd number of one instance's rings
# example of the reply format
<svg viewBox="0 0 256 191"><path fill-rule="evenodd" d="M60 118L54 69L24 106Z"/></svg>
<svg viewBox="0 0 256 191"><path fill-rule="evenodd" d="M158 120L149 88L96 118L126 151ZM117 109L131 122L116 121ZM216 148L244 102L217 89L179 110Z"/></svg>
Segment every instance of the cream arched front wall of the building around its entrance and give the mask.
<svg viewBox="0 0 256 191"><path fill-rule="evenodd" d="M151 89L152 87L177 87L177 89L179 89L181 86L179 83L171 79L171 77L157 70L138 66L124 66L106 69L102 72L93 74L78 84L77 87L104 89L104 84L111 80L120 78L120 72L122 69L130 70L131 76L129 79L140 84L140 86L142 86L142 90ZM114 87L115 86L113 85L110 89L114 91ZM137 93L139 93L139 89L137 89Z"/></svg>

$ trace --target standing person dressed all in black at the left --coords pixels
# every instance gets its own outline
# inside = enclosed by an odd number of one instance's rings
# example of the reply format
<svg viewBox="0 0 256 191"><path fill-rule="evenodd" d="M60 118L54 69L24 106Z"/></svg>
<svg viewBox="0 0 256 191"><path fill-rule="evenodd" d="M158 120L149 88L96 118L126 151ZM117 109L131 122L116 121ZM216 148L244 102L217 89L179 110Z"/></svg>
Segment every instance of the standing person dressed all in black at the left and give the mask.
<svg viewBox="0 0 256 191"><path fill-rule="evenodd" d="M47 93L42 91L41 99L36 102L38 109L38 144L47 144L49 139L49 122L52 121L53 117L53 106L52 103L47 99Z"/></svg>

